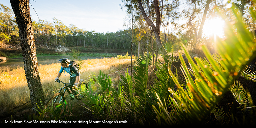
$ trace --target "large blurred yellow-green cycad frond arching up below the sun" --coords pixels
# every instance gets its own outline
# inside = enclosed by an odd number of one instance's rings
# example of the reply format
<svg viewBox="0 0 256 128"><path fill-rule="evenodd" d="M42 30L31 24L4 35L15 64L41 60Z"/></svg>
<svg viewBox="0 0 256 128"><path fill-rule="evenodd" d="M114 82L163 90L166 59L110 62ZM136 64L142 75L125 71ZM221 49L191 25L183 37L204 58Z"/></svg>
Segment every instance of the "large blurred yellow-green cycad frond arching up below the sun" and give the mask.
<svg viewBox="0 0 256 128"><path fill-rule="evenodd" d="M235 9L233 9L235 12ZM256 44L253 43L253 36L250 32L243 27L242 21L237 17L237 21L234 24L237 31L240 33L236 36L232 31L231 25L227 24L226 29L227 39L222 41L218 39L217 49L221 56L221 60L216 60L213 57L205 45L202 46L204 54L209 61L195 58L196 63L190 57L188 51L182 45L185 55L188 58L190 67L187 67L182 55L180 54L180 60L182 64L182 71L185 75L186 85L191 91L191 95L188 95L182 88L182 85L178 82L176 77L172 77L173 81L177 85L178 92L176 93L170 89L173 94L172 102L179 110L180 122L183 123L200 123L206 115L209 114L211 108L222 98L222 94L227 92L229 86L233 83L234 79L238 77L240 70L245 66L249 60L253 59L253 53L255 52ZM188 68L194 72L190 72ZM169 71L171 76L174 76ZM193 80L190 76L196 76ZM240 90L241 91L241 90ZM242 96L241 99L244 99ZM247 101L241 100L241 102Z"/></svg>

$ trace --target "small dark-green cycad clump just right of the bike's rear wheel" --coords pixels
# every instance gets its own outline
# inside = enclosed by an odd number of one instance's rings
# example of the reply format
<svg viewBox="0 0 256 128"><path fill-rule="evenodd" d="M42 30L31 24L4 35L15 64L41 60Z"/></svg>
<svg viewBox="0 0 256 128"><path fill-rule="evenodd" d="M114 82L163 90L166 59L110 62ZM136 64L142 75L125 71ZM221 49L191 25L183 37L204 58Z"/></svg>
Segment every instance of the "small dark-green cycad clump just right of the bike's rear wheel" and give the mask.
<svg viewBox="0 0 256 128"><path fill-rule="evenodd" d="M92 93L92 88L82 92L84 95L83 102L90 111L95 114L96 118L108 121L116 121L116 119L124 120L124 95L119 88L117 91L112 86L112 79L106 74L100 72L99 76L95 75L91 78L92 86L97 82L100 87L100 94ZM118 110L118 111L116 111Z"/></svg>

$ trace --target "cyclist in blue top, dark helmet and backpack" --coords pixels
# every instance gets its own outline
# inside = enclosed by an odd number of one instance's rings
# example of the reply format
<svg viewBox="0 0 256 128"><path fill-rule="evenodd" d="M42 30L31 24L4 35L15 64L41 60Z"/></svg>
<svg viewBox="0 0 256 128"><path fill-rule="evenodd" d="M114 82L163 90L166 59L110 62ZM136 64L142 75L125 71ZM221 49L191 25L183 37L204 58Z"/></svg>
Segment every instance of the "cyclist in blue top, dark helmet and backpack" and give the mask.
<svg viewBox="0 0 256 128"><path fill-rule="evenodd" d="M70 74L69 83L74 84L74 87L77 88L77 85L80 81L79 70L76 68L76 66L69 64L70 60L68 58L63 58L58 61L60 61L60 63L61 63L61 68L60 68L60 71L59 71L57 77L55 78L55 81L60 78L60 75L63 71L64 71L64 74L66 71L68 74ZM66 76L66 74L65 74L65 76Z"/></svg>

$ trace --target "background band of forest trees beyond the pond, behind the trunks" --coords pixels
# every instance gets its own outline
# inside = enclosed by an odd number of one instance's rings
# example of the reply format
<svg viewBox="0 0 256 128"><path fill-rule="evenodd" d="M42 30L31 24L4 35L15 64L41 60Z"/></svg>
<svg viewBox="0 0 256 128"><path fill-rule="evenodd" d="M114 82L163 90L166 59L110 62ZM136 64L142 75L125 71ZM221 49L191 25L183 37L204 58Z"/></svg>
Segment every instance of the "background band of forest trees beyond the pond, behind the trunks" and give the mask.
<svg viewBox="0 0 256 128"><path fill-rule="evenodd" d="M137 0L122 0L121 9L125 9L127 17L124 25L127 29L116 32L98 33L78 28L74 24L65 25L61 19L52 18L35 21L32 19L35 42L37 44L52 44L63 46L83 46L102 49L124 49L144 53L157 49L154 31L144 20ZM132 4L133 3L133 4ZM156 22L156 12L151 0L142 0L145 13L152 22ZM251 31L255 30L255 22L249 11L253 5L250 0L232 0L242 14L245 25ZM185 5L180 9L180 5ZM162 0L159 1L161 14L160 38L167 51L180 49L180 42L195 47L199 43L212 45L211 36L204 36L203 26L207 19L216 18L214 9L229 15L227 3L224 0ZM120 10L121 11L121 10ZM0 4L0 42L19 43L19 30L12 9ZM232 19L230 19L232 20ZM184 21L184 23L181 23ZM132 26L133 25L133 26ZM132 40L133 33L133 40ZM211 47L211 46L209 46Z"/></svg>

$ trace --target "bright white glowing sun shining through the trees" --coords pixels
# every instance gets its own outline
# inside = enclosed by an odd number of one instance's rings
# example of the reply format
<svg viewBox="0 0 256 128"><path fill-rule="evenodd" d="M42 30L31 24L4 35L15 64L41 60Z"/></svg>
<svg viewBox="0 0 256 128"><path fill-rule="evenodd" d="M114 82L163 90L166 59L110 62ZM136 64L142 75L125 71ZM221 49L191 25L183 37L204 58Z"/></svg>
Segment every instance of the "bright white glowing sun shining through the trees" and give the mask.
<svg viewBox="0 0 256 128"><path fill-rule="evenodd" d="M203 36L219 36L220 38L224 37L223 27L224 27L224 20L220 18L210 19L205 21L204 28L203 28Z"/></svg>

